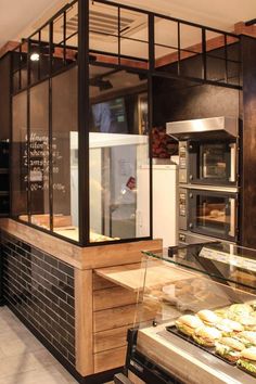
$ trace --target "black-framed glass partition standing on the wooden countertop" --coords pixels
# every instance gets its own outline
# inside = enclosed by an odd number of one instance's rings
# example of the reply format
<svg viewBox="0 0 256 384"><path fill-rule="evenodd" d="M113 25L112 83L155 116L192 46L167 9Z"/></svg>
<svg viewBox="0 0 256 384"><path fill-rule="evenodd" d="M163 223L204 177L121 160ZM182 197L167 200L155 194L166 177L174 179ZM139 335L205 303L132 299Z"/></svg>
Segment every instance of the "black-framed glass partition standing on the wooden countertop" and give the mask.
<svg viewBox="0 0 256 384"><path fill-rule="evenodd" d="M12 59L12 216L81 246L152 234L155 77L241 89L239 37L101 0Z"/></svg>

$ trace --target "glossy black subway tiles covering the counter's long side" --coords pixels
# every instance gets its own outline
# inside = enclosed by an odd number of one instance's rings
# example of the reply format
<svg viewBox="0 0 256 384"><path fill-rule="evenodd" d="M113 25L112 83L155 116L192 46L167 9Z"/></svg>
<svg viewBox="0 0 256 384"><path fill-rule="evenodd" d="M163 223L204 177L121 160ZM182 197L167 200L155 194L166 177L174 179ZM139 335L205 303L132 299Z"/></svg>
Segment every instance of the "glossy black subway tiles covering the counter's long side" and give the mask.
<svg viewBox="0 0 256 384"><path fill-rule="evenodd" d="M1 232L3 295L75 366L74 268Z"/></svg>

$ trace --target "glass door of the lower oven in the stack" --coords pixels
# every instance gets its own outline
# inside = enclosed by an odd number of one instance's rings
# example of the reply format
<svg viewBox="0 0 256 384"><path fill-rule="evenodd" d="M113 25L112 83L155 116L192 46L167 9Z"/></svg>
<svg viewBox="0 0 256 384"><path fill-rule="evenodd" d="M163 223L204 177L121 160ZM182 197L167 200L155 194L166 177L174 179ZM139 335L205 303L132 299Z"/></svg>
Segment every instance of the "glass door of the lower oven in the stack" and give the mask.
<svg viewBox="0 0 256 384"><path fill-rule="evenodd" d="M192 232L236 241L235 193L190 190L189 227Z"/></svg>

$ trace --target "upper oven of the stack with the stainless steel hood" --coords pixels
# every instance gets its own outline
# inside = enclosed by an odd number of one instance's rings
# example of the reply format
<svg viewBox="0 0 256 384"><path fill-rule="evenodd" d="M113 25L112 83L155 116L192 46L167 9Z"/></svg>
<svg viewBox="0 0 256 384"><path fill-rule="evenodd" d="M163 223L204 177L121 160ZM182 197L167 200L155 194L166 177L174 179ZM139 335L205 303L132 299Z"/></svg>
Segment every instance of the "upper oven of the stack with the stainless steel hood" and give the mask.
<svg viewBox="0 0 256 384"><path fill-rule="evenodd" d="M238 184L236 118L213 117L167 124L179 140L179 182L185 184Z"/></svg>

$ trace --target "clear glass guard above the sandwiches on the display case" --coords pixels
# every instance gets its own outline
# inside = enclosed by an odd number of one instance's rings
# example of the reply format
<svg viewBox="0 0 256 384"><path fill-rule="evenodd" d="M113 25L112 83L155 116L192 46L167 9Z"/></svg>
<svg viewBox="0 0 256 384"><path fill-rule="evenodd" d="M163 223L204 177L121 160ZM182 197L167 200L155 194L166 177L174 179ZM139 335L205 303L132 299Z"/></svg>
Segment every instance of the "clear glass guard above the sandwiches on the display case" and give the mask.
<svg viewBox="0 0 256 384"><path fill-rule="evenodd" d="M136 322L175 321L202 309L256 303L256 251L212 242L142 252Z"/></svg>

